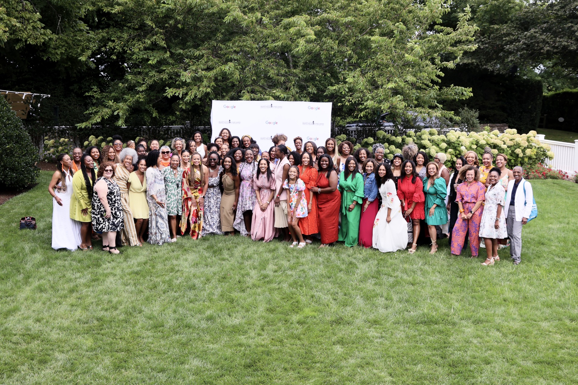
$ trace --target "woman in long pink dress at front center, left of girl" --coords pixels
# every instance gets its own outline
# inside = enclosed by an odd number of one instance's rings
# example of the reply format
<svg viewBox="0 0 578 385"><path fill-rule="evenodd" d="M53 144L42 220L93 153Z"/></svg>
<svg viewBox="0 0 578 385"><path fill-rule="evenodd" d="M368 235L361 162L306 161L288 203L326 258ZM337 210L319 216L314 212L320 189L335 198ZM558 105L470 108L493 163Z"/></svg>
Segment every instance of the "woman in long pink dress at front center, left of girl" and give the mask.
<svg viewBox="0 0 578 385"><path fill-rule="evenodd" d="M251 226L251 239L253 241L269 242L275 236L274 205L271 203L275 197L275 177L269 167L269 160L261 158L258 163L259 169L253 177L253 186L257 202L253 209L253 226Z"/></svg>

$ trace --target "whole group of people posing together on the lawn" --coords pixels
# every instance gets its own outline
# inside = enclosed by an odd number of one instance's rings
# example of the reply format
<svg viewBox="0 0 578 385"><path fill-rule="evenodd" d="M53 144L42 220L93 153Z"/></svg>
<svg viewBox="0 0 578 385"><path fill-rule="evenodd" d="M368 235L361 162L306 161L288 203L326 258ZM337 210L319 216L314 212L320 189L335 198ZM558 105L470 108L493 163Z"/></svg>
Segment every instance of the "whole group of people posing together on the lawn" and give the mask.
<svg viewBox="0 0 578 385"><path fill-rule="evenodd" d="M421 237L435 253L446 234L453 255L469 241L477 257L483 238L486 266L499 260L498 247L509 238L510 255L520 263L532 187L521 167L506 168L506 155L494 159L486 148L480 166L468 151L450 174L445 154L429 162L415 144L388 160L382 144L354 151L349 141L328 138L317 147L296 137L291 149L287 140L276 134L273 146L261 149L251 136L223 129L208 144L201 132L170 146L115 136L102 151L61 154L49 186L52 246L87 250L100 238L103 251L118 253L121 244L238 232L254 241L279 237L291 248L319 238L320 248L339 241L409 253Z"/></svg>

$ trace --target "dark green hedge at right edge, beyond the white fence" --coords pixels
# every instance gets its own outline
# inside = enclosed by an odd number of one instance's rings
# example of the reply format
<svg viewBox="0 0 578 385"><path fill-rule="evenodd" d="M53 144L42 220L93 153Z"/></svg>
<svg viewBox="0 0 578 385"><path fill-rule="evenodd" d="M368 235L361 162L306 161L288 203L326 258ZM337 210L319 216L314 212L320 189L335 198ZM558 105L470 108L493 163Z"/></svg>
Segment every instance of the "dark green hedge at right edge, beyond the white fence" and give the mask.
<svg viewBox="0 0 578 385"><path fill-rule="evenodd" d="M544 128L578 132L578 89L544 95L542 115L546 116Z"/></svg>

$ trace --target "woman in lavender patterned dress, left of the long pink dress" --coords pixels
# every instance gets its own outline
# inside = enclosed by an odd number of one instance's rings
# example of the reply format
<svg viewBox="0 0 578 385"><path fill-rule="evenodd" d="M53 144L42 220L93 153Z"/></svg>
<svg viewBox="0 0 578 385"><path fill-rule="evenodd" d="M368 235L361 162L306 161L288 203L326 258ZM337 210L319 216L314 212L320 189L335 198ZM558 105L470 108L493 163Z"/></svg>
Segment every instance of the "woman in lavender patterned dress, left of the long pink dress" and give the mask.
<svg viewBox="0 0 578 385"><path fill-rule="evenodd" d="M244 155L245 161L239 165L239 204L237 205L233 227L239 230L242 236L250 237L253 209L257 200L253 186L253 175L257 174L258 167L253 157L253 151L247 149Z"/></svg>

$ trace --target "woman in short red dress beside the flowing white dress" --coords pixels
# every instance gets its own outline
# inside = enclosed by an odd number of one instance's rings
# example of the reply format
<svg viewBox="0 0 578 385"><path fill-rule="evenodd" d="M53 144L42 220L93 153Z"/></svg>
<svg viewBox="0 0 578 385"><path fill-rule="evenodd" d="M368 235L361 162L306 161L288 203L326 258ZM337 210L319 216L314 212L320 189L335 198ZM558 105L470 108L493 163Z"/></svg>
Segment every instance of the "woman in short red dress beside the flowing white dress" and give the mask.
<svg viewBox="0 0 578 385"><path fill-rule="evenodd" d="M424 185L416 173L416 164L407 159L401 166L403 176L398 180L398 197L401 200L403 216L412 219L413 242L410 254L416 252L417 237L420 236L420 219L425 219Z"/></svg>

